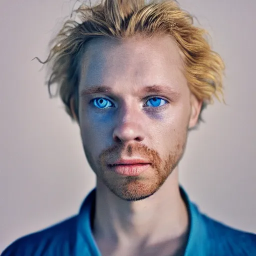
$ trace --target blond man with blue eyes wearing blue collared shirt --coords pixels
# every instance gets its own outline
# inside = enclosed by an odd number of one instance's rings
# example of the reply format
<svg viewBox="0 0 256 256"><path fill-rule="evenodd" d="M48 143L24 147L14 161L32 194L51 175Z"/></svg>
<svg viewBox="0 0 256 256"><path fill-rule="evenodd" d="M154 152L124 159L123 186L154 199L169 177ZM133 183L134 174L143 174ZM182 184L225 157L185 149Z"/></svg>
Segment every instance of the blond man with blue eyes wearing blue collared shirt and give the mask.
<svg viewBox="0 0 256 256"><path fill-rule="evenodd" d="M174 1L82 5L53 41L48 86L80 127L96 187L77 215L6 255L256 255L256 235L199 212L178 183L188 130L224 64ZM45 63L44 62L44 63Z"/></svg>

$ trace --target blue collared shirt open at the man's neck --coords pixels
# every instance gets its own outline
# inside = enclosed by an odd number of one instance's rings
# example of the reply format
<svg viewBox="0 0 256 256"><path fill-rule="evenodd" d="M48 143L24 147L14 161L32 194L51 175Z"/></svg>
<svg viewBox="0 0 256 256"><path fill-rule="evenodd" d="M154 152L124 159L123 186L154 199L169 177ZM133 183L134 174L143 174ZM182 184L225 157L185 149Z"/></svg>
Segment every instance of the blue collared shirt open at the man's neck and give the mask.
<svg viewBox="0 0 256 256"><path fill-rule="evenodd" d="M189 212L189 236L184 256L256 256L256 234L217 222L199 212L182 187ZM95 188L86 196L79 213L46 229L23 236L1 256L100 256L91 231Z"/></svg>

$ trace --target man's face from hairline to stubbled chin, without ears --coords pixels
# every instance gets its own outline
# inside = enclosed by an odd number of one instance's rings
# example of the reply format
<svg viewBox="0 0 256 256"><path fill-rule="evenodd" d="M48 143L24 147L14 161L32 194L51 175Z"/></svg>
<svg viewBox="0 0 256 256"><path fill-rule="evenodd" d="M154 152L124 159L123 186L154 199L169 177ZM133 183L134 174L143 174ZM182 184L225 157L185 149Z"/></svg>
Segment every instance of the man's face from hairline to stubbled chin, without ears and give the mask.
<svg viewBox="0 0 256 256"><path fill-rule="evenodd" d="M80 132L91 168L114 194L139 200L158 190L182 157L190 113L182 59L170 37L87 44L79 82ZM149 164L137 175L124 175L110 165L120 159Z"/></svg>

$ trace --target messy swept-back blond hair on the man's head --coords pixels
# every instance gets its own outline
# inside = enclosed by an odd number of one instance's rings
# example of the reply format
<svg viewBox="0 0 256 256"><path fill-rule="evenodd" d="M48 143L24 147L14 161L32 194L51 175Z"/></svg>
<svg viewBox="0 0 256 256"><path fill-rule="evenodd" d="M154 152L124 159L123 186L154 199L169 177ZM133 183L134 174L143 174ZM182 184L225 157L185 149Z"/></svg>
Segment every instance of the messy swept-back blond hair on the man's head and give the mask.
<svg viewBox="0 0 256 256"><path fill-rule="evenodd" d="M224 63L211 50L205 37L207 32L193 25L193 17L174 0L101 0L94 6L81 4L74 11L80 21L70 16L50 42L50 52L42 62L50 63L50 86L57 84L66 112L73 119L70 99L74 96L78 118L79 63L85 44L97 37L125 38L135 34L148 37L167 34L172 36L183 55L184 73L191 92L202 100L201 111L222 94ZM57 95L56 94L56 95ZM223 99L224 101L224 99ZM198 122L201 118L201 111Z"/></svg>

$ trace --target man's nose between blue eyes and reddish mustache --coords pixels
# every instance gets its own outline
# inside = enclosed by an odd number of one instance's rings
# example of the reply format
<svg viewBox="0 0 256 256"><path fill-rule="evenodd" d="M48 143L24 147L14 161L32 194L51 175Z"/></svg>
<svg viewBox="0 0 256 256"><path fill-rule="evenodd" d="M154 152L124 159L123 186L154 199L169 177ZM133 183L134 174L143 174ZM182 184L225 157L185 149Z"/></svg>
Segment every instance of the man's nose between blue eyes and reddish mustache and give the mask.
<svg viewBox="0 0 256 256"><path fill-rule="evenodd" d="M119 112L117 124L113 130L113 140L122 143L142 141L145 138L145 133L141 116L138 116L134 108L126 108L121 112Z"/></svg>

